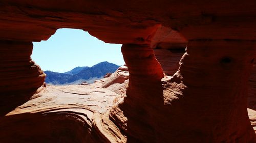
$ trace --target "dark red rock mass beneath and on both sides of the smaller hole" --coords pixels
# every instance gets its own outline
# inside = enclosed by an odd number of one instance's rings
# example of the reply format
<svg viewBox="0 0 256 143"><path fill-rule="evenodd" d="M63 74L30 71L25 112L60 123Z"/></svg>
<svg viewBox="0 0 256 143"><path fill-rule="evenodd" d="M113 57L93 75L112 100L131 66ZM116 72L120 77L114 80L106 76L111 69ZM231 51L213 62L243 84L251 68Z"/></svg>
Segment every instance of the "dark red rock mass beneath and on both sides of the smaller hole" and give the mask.
<svg viewBox="0 0 256 143"><path fill-rule="evenodd" d="M189 41L168 79L153 49L123 45L129 88L110 119L127 142L253 143L247 90L255 51L252 41Z"/></svg>

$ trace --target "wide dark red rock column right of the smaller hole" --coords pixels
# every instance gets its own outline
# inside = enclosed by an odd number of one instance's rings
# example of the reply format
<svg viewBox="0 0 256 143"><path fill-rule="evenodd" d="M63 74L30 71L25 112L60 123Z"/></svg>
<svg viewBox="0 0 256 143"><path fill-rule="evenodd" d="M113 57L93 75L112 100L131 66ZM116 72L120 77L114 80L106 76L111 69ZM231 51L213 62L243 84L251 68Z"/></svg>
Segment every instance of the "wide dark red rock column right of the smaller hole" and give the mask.
<svg viewBox="0 0 256 143"><path fill-rule="evenodd" d="M179 70L163 83L168 117L162 116L157 130L166 130L170 140L183 138L183 142L255 142L247 113L255 44L189 41Z"/></svg>

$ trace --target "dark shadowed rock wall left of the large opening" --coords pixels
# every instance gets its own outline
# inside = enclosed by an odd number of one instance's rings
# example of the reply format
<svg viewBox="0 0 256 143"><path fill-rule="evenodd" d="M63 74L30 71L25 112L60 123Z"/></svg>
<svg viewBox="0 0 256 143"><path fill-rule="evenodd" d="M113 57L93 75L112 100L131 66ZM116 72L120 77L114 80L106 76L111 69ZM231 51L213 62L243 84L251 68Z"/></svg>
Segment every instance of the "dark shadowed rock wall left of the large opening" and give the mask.
<svg viewBox="0 0 256 143"><path fill-rule="evenodd" d="M44 83L45 74L31 60L32 42L0 41L0 116L25 103Z"/></svg>

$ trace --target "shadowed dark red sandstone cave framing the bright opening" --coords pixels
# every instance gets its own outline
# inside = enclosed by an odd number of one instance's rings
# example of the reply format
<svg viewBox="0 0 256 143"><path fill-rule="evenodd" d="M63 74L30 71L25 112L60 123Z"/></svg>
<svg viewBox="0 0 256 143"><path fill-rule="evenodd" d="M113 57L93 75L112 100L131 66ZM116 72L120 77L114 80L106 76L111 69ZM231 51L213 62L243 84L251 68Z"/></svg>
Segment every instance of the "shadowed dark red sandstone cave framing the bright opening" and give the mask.
<svg viewBox="0 0 256 143"><path fill-rule="evenodd" d="M2 142L256 142L255 2L3 1L0 7ZM58 28L122 44L129 82L108 108L78 107L83 100L47 110L25 106L46 88L30 58L32 41Z"/></svg>

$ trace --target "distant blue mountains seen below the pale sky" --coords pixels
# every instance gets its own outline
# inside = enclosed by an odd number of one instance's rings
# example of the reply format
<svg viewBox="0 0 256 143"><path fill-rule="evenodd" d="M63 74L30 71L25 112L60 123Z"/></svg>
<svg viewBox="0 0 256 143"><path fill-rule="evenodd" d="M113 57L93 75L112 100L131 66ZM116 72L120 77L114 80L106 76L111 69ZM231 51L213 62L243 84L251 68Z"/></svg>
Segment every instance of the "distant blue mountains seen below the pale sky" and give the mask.
<svg viewBox="0 0 256 143"><path fill-rule="evenodd" d="M45 71L45 82L54 85L79 84L82 81L93 83L95 80L102 78L106 73L115 72L119 67L109 62L101 62L92 67L76 67L65 73Z"/></svg>

